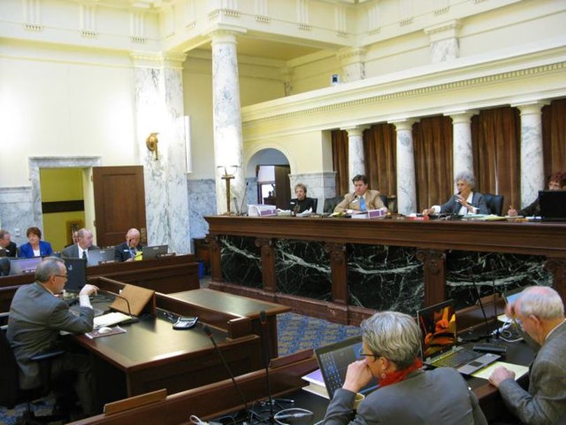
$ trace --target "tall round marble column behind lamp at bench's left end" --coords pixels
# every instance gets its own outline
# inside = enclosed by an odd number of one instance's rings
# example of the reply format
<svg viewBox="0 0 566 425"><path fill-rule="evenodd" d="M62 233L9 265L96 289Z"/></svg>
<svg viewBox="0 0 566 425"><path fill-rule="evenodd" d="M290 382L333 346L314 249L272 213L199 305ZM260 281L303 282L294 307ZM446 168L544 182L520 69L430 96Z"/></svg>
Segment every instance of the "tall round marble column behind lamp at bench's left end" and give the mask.
<svg viewBox="0 0 566 425"><path fill-rule="evenodd" d="M241 201L245 189L243 163L242 116L240 113L240 85L235 31L219 29L212 36L212 96L215 135L215 166L237 165L231 180L231 210L235 198ZM226 182L224 169L216 168L217 212L226 212Z"/></svg>

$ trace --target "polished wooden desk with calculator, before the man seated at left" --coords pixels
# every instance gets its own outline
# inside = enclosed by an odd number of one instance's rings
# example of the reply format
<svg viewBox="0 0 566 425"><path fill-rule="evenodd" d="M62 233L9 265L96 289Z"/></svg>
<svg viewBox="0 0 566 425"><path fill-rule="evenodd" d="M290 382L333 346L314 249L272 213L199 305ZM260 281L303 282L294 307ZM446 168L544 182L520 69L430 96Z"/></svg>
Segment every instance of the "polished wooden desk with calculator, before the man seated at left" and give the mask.
<svg viewBox="0 0 566 425"><path fill-rule="evenodd" d="M101 289L117 292L124 286L108 278L96 278ZM156 303L175 307L169 312L184 314L190 303L156 295ZM235 375L262 367L261 339L251 332L250 319L215 312L222 328L210 324L212 334ZM205 317L201 317L203 321ZM72 338L94 354L94 376L101 401L119 400L166 388L169 394L224 380L228 373L202 324L176 331L174 318L158 310L157 317L143 315L138 323L122 325L126 333L91 340L84 335Z"/></svg>

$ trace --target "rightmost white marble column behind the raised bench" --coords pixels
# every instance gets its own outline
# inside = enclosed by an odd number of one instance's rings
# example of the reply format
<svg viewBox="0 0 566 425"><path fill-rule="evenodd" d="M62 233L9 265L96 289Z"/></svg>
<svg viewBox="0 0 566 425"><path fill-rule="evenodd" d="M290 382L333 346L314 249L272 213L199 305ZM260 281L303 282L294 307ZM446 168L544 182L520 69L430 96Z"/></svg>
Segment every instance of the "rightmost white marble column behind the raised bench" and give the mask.
<svg viewBox="0 0 566 425"><path fill-rule="evenodd" d="M521 208L536 199L544 189L542 155L542 107L547 103L513 105L521 111Z"/></svg>

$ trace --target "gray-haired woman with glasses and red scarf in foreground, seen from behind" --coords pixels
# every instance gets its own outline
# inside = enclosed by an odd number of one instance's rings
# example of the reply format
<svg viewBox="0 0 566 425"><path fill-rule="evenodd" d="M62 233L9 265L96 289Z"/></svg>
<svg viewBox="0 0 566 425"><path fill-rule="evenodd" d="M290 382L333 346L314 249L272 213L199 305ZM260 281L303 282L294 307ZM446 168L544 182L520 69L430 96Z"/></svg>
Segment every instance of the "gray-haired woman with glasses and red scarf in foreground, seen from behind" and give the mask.
<svg viewBox="0 0 566 425"><path fill-rule="evenodd" d="M348 366L324 424L487 424L476 396L455 369L421 370L421 331L399 312L378 312L361 324L365 359ZM351 411L356 393L377 378L379 389Z"/></svg>

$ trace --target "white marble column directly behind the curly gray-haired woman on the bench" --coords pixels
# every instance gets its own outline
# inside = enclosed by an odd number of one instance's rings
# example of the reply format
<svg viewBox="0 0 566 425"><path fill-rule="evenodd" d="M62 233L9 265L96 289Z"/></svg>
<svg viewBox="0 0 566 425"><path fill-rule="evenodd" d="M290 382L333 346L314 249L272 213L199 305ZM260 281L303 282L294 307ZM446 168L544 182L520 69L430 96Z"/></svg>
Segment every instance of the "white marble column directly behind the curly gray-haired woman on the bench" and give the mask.
<svg viewBox="0 0 566 425"><path fill-rule="evenodd" d="M475 110L447 114L452 119L452 173L453 178L462 172L474 174L474 152L472 151L472 116ZM456 184L454 183L454 189Z"/></svg>

